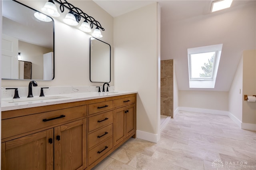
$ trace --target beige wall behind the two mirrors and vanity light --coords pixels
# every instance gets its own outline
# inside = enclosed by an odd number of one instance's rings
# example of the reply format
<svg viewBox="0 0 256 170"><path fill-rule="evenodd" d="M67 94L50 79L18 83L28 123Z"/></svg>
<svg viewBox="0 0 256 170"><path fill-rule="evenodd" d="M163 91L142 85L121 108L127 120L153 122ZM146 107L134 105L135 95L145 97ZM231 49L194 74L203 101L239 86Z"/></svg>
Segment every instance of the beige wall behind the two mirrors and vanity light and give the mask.
<svg viewBox="0 0 256 170"><path fill-rule="evenodd" d="M20 0L20 2L41 10L45 0ZM112 51L112 80L113 85L113 17L102 10L93 1L69 1L83 10L88 15L98 20L105 31L100 40L109 43ZM58 6L58 5L57 5ZM68 11L65 10L65 14ZM65 14L61 14L64 17ZM90 82L89 75L89 38L86 34L75 27L68 26L62 22L62 18L54 18L55 21L55 78L53 81L37 81L38 86L86 86L102 85L102 83ZM81 24L81 23L80 23ZM79 24L79 25L80 25ZM95 28L95 27L94 27ZM2 87L27 86L29 81L2 80Z"/></svg>

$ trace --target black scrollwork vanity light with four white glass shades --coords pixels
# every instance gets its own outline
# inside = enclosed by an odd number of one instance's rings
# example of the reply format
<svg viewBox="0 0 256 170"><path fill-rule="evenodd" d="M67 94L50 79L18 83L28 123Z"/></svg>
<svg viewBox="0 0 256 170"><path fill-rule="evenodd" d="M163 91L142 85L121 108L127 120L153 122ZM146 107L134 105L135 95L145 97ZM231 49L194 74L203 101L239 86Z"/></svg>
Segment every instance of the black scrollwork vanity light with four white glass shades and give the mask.
<svg viewBox="0 0 256 170"><path fill-rule="evenodd" d="M84 22L82 22L79 30L83 32L91 32L91 29L95 26L96 28L94 29L92 36L95 36L96 38L102 37L100 29L102 31L104 31L105 29L101 26L100 22L96 21L92 16L84 13L81 9L75 7L66 0L48 0L48 2L46 2L46 4L44 5L44 8L42 8L42 11L49 16L60 16L54 2L60 5L61 13L64 12L65 8L69 10L68 14L66 14L66 17L63 19L64 23L71 26L76 26L81 19L84 19Z"/></svg>

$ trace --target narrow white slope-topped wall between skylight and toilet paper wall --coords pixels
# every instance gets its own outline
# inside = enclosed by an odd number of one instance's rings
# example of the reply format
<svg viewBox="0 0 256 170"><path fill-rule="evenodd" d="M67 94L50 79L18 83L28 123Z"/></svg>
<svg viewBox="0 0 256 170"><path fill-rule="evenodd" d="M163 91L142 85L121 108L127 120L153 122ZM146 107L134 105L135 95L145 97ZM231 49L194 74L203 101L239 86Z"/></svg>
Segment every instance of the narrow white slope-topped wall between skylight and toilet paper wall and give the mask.
<svg viewBox="0 0 256 170"><path fill-rule="evenodd" d="M228 93L228 111L242 122L242 101L243 101L243 57L236 69L232 85Z"/></svg>

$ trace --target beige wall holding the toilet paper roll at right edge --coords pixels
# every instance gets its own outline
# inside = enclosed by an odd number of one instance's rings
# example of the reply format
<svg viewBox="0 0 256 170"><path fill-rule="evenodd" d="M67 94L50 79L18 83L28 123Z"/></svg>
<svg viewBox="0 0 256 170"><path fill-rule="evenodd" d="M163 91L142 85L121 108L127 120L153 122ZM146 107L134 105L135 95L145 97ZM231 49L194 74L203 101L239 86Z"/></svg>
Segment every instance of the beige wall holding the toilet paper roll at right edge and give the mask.
<svg viewBox="0 0 256 170"><path fill-rule="evenodd" d="M243 52L243 95L256 95L256 50ZM242 101L242 123L256 124L256 102Z"/></svg>

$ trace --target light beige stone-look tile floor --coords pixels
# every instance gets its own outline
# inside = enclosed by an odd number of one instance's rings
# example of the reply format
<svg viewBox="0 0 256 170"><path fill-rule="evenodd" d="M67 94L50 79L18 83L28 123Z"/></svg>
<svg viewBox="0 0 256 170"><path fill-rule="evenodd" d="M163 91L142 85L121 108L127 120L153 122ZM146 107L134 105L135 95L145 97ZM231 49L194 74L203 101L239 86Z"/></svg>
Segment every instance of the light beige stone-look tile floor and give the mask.
<svg viewBox="0 0 256 170"><path fill-rule="evenodd" d="M94 170L256 170L256 132L228 116L180 111L156 143L130 138Z"/></svg>

